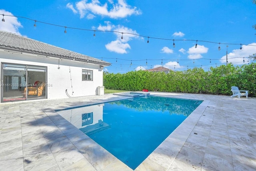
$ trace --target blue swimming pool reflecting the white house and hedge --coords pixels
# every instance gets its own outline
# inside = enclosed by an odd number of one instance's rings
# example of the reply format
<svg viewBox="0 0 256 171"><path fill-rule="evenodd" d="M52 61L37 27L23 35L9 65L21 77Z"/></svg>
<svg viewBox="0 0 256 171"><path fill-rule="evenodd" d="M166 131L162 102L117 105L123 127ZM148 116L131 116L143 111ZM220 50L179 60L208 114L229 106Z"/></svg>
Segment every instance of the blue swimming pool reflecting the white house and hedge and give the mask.
<svg viewBox="0 0 256 171"><path fill-rule="evenodd" d="M202 101L149 96L57 111L136 169Z"/></svg>

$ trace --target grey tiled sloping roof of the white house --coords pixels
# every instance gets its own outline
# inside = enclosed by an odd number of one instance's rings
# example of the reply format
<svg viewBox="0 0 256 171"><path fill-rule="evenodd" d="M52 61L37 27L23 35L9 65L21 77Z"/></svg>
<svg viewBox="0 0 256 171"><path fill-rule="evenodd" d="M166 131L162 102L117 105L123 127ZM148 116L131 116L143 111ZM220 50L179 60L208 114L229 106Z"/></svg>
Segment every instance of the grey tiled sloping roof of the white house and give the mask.
<svg viewBox="0 0 256 171"><path fill-rule="evenodd" d="M0 31L0 48L12 51L27 52L31 54L53 56L64 59L78 60L93 64L110 66L109 62L98 60L90 56L72 52L57 46L39 42L30 38L26 38L17 34Z"/></svg>

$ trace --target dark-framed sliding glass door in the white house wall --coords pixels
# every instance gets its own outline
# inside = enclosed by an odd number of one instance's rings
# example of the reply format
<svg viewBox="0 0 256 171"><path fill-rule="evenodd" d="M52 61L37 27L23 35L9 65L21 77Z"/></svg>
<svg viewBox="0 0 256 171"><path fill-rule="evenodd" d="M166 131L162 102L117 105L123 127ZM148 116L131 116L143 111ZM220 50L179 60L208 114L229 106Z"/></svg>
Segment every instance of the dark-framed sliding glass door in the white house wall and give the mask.
<svg viewBox="0 0 256 171"><path fill-rule="evenodd" d="M1 102L46 98L46 67L1 64Z"/></svg>

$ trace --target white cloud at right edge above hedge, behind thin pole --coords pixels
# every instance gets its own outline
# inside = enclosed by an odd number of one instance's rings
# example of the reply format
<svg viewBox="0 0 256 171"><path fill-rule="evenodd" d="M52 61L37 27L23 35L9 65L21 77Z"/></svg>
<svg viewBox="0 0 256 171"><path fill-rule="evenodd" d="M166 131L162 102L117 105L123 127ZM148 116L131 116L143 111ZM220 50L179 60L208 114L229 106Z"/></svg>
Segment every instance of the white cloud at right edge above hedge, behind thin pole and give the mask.
<svg viewBox="0 0 256 171"><path fill-rule="evenodd" d="M228 53L228 63L241 65L248 63L249 60L248 57L252 54L255 54L256 52L256 43L251 43L248 45L242 45L242 51L240 50L240 47L238 49L232 50L230 53ZM243 62L245 61L245 63ZM222 56L220 59L221 63L226 64L226 55Z"/></svg>

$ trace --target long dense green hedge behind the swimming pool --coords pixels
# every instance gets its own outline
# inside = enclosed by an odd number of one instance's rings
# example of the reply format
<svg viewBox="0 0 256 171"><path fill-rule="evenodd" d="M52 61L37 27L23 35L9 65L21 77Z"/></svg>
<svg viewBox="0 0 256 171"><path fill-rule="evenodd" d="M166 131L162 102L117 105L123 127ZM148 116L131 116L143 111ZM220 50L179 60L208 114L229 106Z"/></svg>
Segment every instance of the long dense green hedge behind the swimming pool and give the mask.
<svg viewBox="0 0 256 171"><path fill-rule="evenodd" d="M231 95L231 86L249 90L250 97L256 97L256 63L234 67L232 64L170 72L132 71L125 74L104 72L106 89L127 91L162 91L182 93L207 93Z"/></svg>

